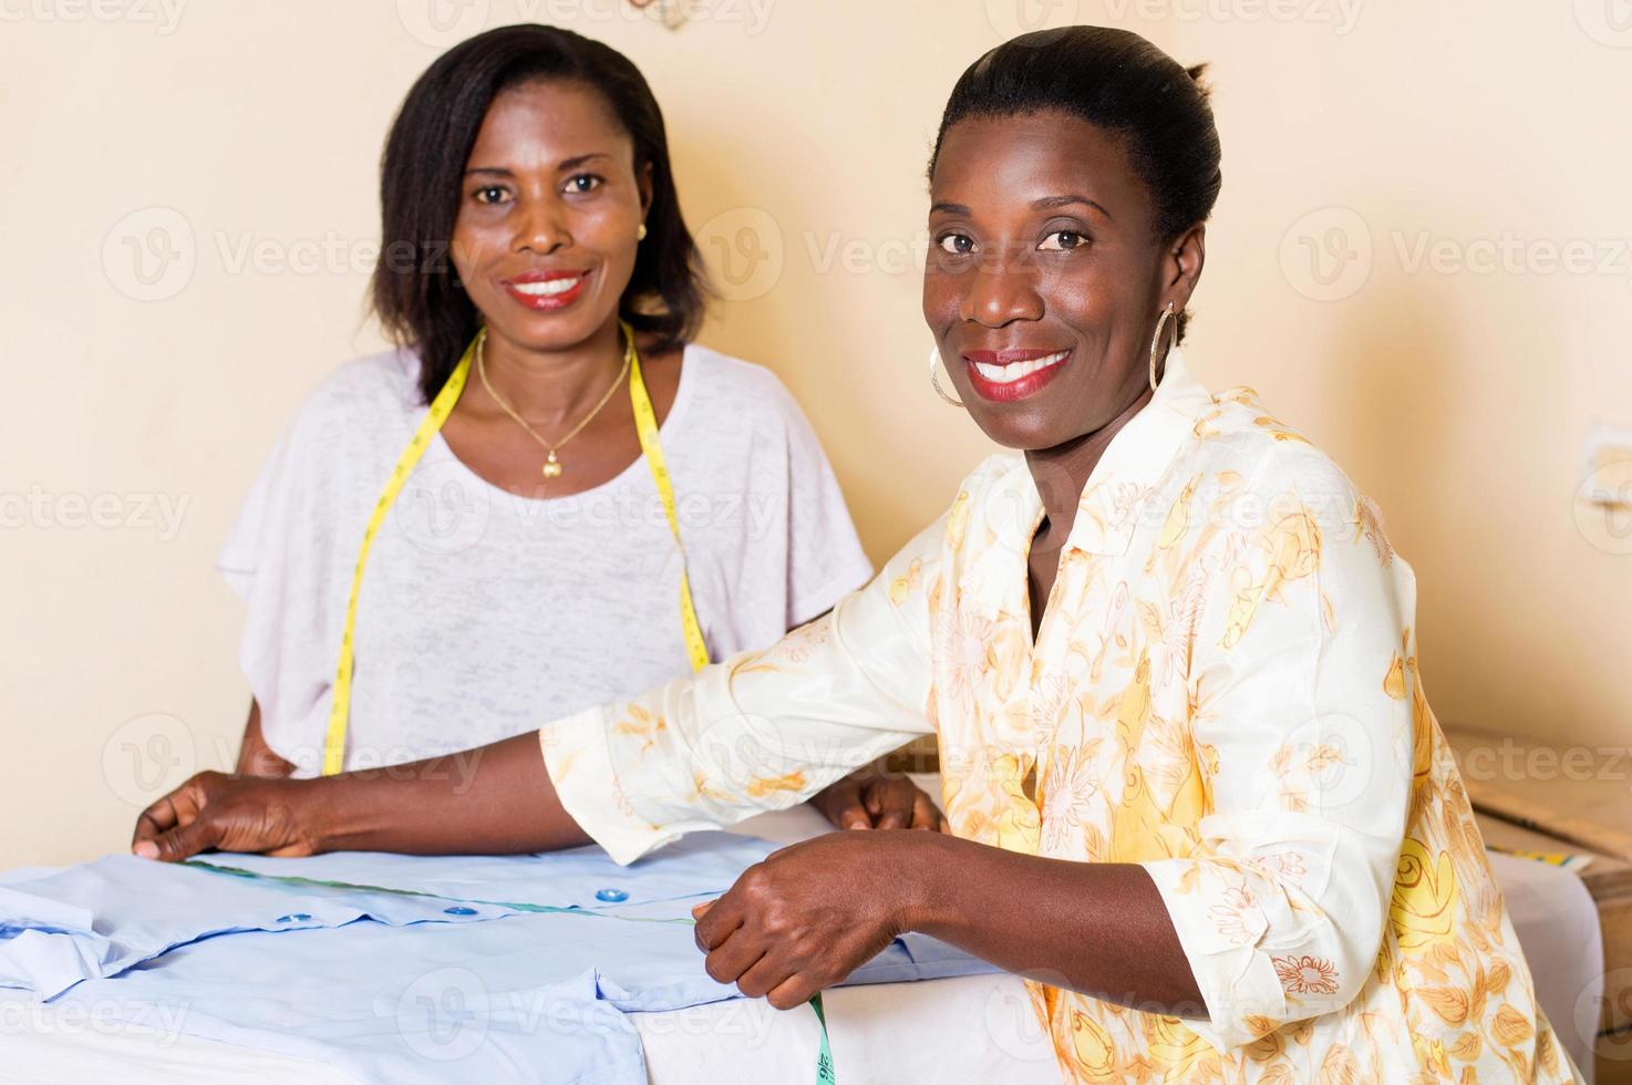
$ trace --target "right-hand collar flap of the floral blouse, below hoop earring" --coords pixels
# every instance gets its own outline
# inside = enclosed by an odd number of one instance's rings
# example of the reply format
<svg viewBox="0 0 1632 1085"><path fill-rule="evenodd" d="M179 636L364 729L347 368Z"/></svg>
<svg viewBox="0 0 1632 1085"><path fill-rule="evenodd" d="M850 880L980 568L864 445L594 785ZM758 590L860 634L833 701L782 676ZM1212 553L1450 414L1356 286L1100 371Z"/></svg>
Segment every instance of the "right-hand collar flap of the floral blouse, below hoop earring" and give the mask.
<svg viewBox="0 0 1632 1085"><path fill-rule="evenodd" d="M1111 437L1089 475L1066 547L1095 555L1128 553L1141 507L1209 410L1213 395L1190 375L1183 352L1173 348L1155 395Z"/></svg>

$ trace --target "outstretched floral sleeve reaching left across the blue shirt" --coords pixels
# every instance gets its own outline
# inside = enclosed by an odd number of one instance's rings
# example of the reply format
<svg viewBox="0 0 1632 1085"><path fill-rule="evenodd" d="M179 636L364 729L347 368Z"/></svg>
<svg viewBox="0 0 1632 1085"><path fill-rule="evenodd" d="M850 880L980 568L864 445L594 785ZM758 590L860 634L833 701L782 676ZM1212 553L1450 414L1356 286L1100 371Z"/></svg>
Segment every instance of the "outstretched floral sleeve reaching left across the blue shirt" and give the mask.
<svg viewBox="0 0 1632 1085"><path fill-rule="evenodd" d="M927 596L943 522L764 651L539 731L566 813L619 863L801 803L934 729Z"/></svg>

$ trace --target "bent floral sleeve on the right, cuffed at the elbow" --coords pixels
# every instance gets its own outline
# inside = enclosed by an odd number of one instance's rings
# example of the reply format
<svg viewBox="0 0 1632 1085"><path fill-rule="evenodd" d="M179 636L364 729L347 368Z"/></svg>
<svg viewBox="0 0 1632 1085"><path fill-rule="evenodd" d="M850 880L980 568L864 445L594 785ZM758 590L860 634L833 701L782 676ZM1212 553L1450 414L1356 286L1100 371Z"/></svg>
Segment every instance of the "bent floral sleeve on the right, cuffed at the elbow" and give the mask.
<svg viewBox="0 0 1632 1085"><path fill-rule="evenodd" d="M1284 475L1281 475L1284 478ZM1219 1047L1346 1005L1371 974L1412 785L1410 569L1335 470L1219 537L1191 658L1211 813L1144 863Z"/></svg>

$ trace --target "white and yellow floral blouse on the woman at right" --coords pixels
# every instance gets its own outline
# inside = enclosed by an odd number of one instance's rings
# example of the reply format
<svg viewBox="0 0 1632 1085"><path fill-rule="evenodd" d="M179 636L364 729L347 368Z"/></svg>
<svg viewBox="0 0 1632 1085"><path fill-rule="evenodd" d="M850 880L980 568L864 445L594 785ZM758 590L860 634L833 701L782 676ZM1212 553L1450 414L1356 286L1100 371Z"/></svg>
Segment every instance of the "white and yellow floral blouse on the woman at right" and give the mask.
<svg viewBox="0 0 1632 1085"><path fill-rule="evenodd" d="M1573 1080L1373 503L1175 351L1082 493L1033 643L1041 519L1023 458L994 455L827 617L543 728L561 801L630 861L934 731L958 835L1144 865L1206 999L1180 1020L1030 982L1066 1080Z"/></svg>

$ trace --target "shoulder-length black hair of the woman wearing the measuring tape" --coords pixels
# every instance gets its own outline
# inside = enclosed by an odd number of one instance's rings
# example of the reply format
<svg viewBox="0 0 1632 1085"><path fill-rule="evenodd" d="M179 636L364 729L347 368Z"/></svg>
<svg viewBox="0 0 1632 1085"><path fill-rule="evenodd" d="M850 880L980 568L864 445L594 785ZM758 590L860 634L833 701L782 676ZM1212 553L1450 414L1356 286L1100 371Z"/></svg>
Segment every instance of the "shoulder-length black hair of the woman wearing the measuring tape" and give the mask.
<svg viewBox="0 0 1632 1085"><path fill-rule="evenodd" d="M681 215L663 111L640 69L570 29L532 23L491 29L449 49L415 82L380 158L374 312L398 343L418 351L428 401L481 325L449 258L465 163L493 100L534 80L594 88L635 144L636 175L651 166L646 240L619 315L650 336L654 351L684 344L703 318L702 256Z"/></svg>

